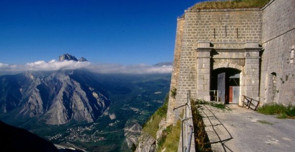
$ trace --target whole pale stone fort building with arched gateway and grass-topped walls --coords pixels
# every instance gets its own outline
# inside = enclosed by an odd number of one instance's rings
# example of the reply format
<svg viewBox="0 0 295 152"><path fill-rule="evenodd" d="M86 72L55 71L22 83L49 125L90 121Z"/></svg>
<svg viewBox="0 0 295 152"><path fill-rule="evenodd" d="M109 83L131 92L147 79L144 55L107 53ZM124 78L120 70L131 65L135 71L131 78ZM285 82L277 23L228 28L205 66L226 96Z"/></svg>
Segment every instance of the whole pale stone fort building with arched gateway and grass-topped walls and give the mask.
<svg viewBox="0 0 295 152"><path fill-rule="evenodd" d="M295 104L295 0L263 8L185 10L177 19L167 123L192 99ZM176 96L172 92L176 91ZM215 99L214 99L215 98Z"/></svg>

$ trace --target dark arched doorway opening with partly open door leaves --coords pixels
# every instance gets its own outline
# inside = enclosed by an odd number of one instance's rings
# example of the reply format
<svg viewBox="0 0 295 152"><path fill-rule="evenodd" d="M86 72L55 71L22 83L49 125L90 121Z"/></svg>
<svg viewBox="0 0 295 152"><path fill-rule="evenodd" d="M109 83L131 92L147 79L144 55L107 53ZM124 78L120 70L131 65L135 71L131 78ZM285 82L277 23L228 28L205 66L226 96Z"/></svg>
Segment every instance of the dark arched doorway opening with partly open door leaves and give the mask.
<svg viewBox="0 0 295 152"><path fill-rule="evenodd" d="M210 90L218 90L218 101L226 104L238 103L239 74L240 71L233 68L219 68L212 71Z"/></svg>

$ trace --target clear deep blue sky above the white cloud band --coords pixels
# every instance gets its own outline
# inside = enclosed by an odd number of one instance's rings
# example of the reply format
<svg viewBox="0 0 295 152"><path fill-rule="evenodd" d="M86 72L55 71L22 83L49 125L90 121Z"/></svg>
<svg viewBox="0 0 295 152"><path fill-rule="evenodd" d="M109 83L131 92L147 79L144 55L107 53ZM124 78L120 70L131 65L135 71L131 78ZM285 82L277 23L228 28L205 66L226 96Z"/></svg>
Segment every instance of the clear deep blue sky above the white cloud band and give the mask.
<svg viewBox="0 0 295 152"><path fill-rule="evenodd" d="M0 63L173 61L177 16L199 0L0 0Z"/></svg>

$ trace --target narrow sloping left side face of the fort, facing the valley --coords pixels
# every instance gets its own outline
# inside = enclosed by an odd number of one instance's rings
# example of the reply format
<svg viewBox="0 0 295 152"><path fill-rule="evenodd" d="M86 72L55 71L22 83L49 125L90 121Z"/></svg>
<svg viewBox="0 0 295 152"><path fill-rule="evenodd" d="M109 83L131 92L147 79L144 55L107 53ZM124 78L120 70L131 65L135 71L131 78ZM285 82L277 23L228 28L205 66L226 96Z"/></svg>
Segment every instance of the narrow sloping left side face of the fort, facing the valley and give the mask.
<svg viewBox="0 0 295 152"><path fill-rule="evenodd" d="M167 110L167 124L172 124L174 120L173 109L176 107L176 97L171 95L171 91L177 89L177 82L179 76L179 66L180 66L180 51L182 45L182 35L183 35L183 25L184 18L177 19L177 30L175 39L175 49L174 49L174 60L173 60L173 70L171 76L170 92L169 92L169 103Z"/></svg>

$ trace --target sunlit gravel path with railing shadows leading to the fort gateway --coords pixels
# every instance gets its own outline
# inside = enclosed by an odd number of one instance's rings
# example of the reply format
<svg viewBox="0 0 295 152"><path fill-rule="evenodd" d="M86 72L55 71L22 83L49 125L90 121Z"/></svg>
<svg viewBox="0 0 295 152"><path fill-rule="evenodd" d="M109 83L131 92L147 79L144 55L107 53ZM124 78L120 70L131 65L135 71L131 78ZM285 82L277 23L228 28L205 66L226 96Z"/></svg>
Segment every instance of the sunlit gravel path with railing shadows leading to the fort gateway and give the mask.
<svg viewBox="0 0 295 152"><path fill-rule="evenodd" d="M198 108L213 152L295 152L295 120L227 105Z"/></svg>

